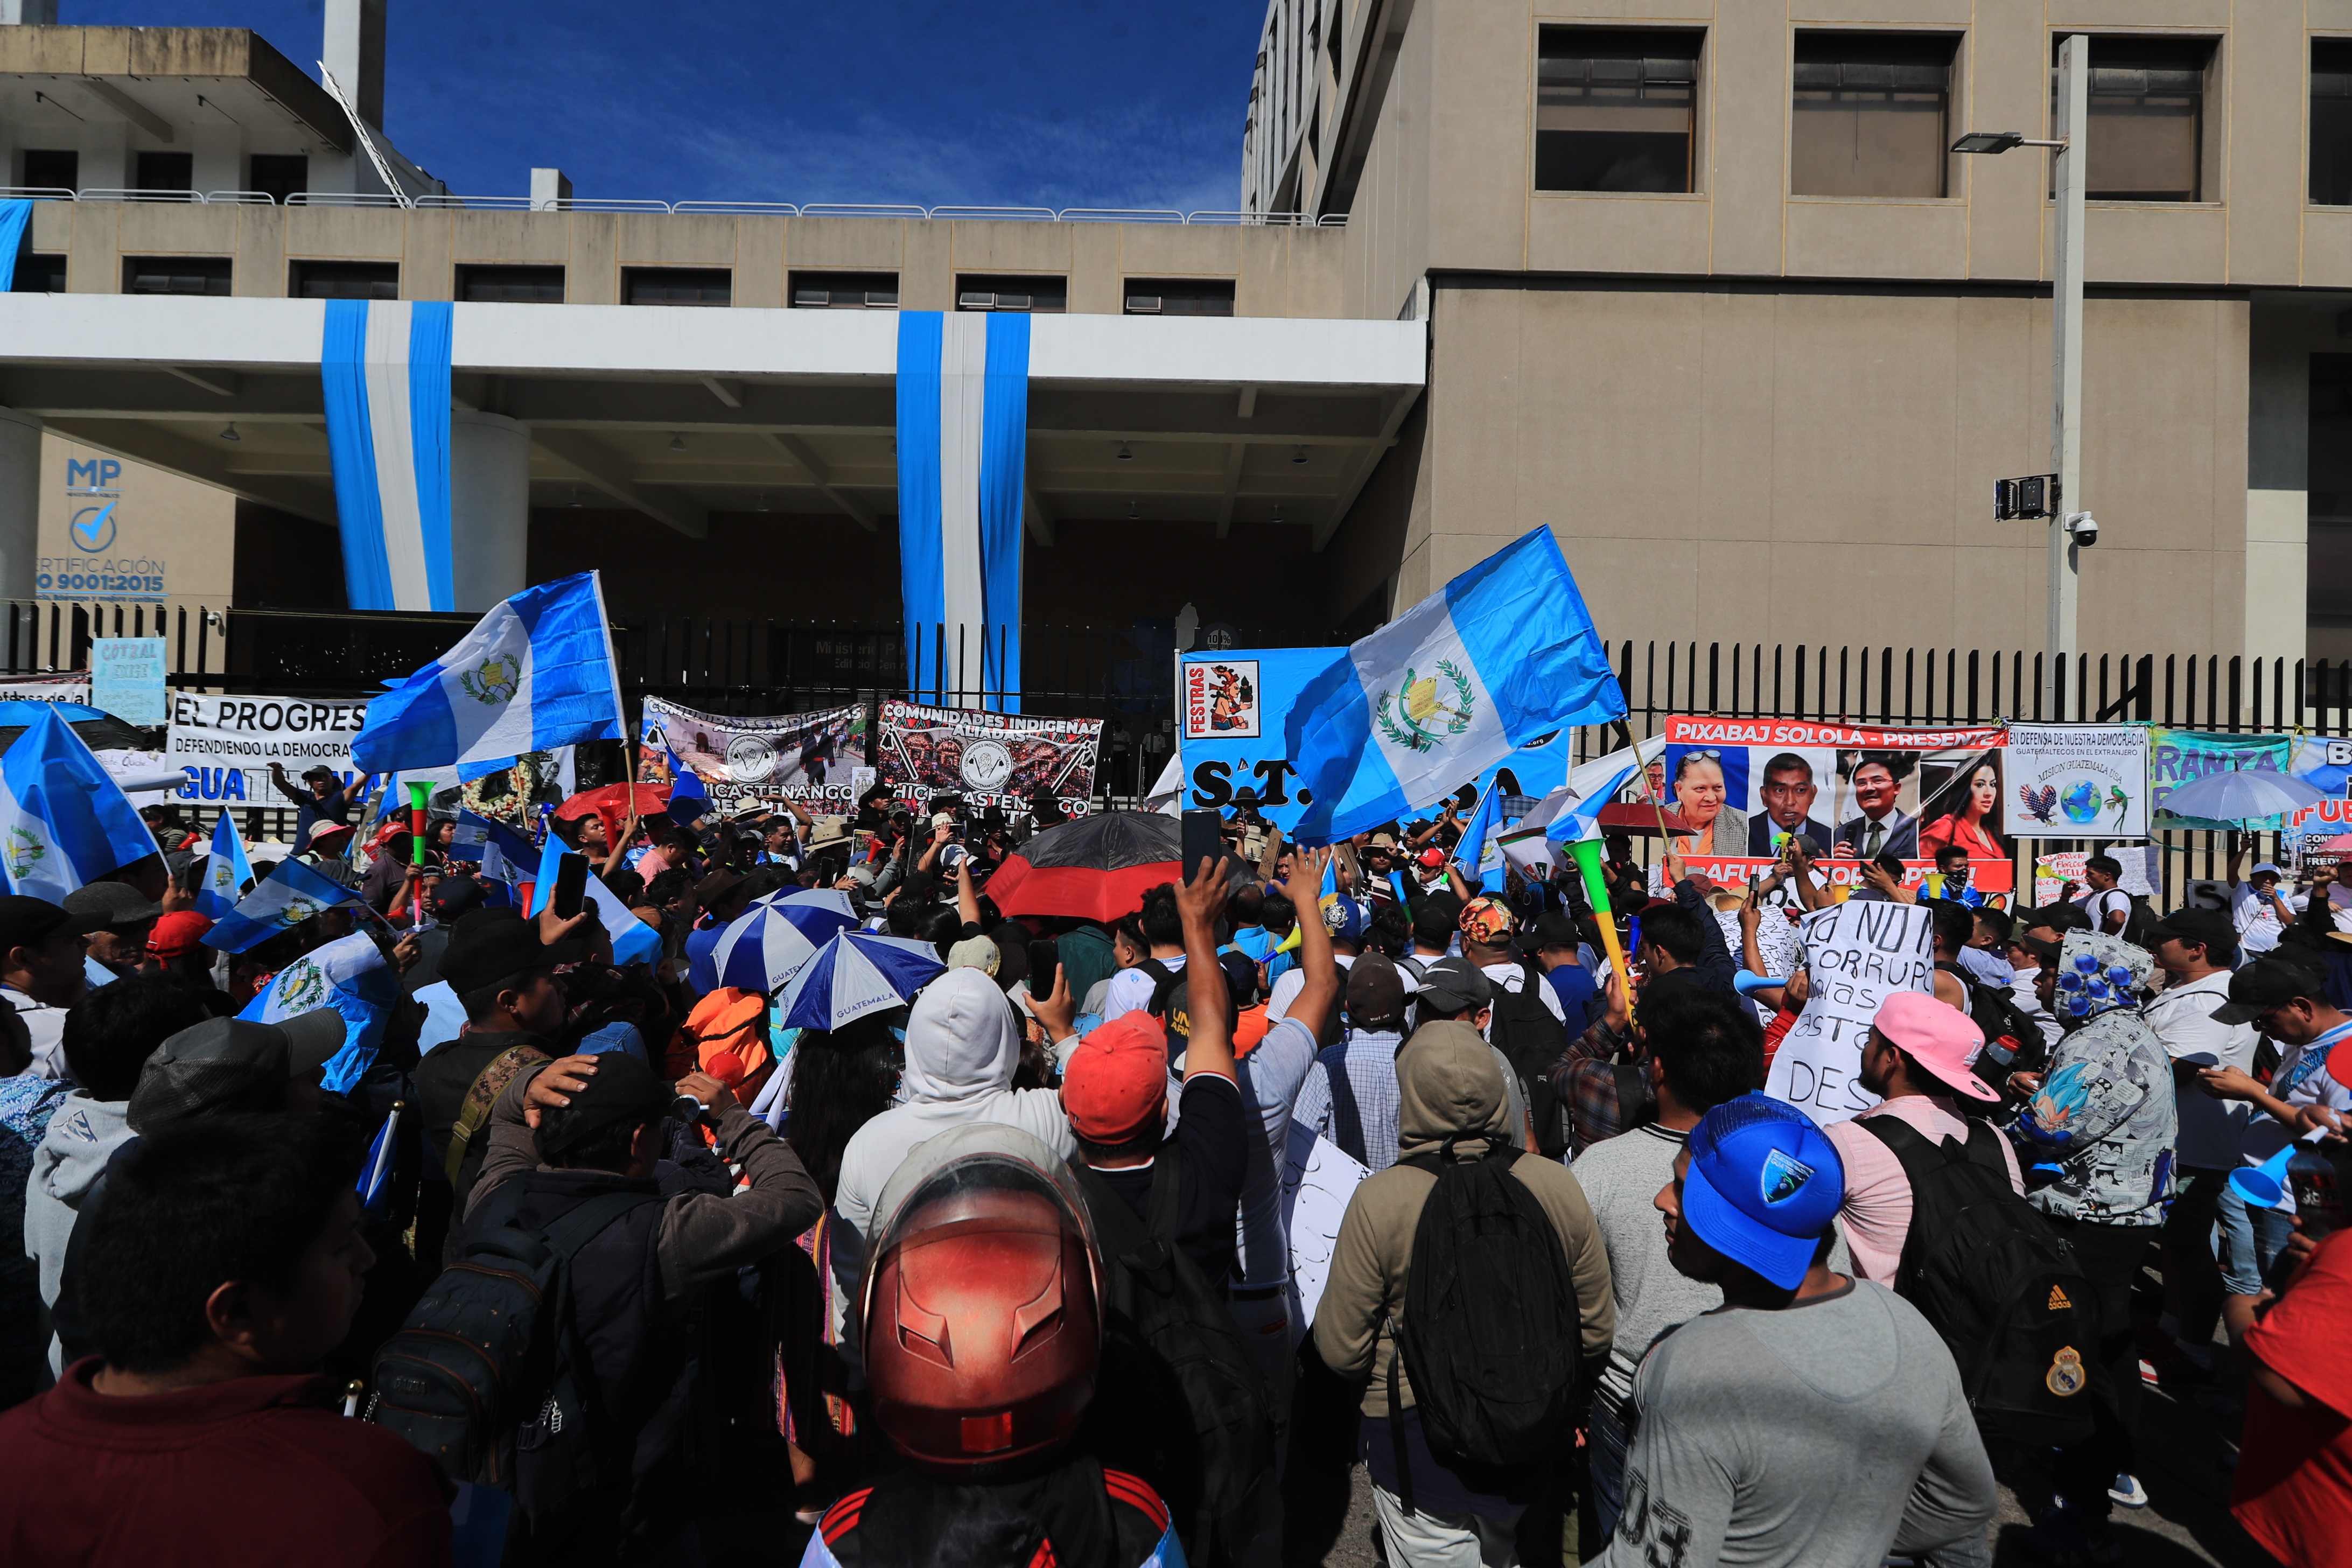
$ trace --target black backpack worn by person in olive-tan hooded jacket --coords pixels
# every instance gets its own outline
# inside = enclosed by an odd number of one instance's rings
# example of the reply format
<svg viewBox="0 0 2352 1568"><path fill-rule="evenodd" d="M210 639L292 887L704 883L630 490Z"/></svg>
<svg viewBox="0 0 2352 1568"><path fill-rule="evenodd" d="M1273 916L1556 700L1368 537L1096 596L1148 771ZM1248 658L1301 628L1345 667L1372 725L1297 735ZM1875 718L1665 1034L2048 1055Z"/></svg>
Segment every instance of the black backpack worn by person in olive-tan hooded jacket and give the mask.
<svg viewBox="0 0 2352 1568"><path fill-rule="evenodd" d="M1456 1138L1479 1138L1461 1133ZM1397 1399L1397 1361L1430 1450L1449 1465L1519 1469L1566 1439L1583 1356L1583 1312L1559 1232L1510 1166L1519 1150L1491 1143L1482 1159L1437 1154L1399 1164L1437 1178L1421 1204L1404 1281L1404 1324L1388 1321L1388 1422L1397 1481L1414 1507Z"/></svg>

